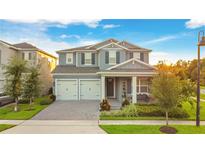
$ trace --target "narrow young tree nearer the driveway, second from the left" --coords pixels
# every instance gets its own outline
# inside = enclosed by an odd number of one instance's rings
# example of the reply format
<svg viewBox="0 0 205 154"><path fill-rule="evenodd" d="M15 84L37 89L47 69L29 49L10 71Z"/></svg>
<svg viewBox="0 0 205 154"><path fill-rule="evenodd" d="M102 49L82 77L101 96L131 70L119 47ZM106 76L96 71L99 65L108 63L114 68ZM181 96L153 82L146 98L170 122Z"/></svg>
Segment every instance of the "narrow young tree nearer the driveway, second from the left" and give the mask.
<svg viewBox="0 0 205 154"><path fill-rule="evenodd" d="M24 77L23 84L23 97L29 99L29 108L33 99L39 95L40 92L40 82L39 82L39 68L31 67L29 68L29 73Z"/></svg>

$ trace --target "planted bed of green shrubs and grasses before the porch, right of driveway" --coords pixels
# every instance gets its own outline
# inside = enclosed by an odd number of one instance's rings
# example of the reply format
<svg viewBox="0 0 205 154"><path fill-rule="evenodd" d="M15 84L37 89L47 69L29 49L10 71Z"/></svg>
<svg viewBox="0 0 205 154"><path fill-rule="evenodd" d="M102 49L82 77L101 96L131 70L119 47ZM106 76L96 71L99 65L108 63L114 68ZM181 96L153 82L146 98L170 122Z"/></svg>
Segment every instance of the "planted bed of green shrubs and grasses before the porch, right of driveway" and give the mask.
<svg viewBox="0 0 205 154"><path fill-rule="evenodd" d="M189 103L184 103L181 107L176 107L169 112L170 119L192 120L195 117L194 107ZM205 105L205 104L204 104ZM205 106L204 106L205 107ZM101 120L164 120L165 112L160 110L158 104L130 104L121 110L102 111ZM205 119L205 114L204 114Z"/></svg>

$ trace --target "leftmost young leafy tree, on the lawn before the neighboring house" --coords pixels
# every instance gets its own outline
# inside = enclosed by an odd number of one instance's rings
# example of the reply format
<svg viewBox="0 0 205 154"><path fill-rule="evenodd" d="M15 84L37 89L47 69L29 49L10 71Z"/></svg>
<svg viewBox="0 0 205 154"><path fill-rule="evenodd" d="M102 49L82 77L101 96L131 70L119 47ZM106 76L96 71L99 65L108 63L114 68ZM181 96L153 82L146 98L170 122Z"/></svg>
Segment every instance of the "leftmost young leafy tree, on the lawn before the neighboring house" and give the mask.
<svg viewBox="0 0 205 154"><path fill-rule="evenodd" d="M7 65L3 66L3 69L6 77L4 91L15 99L14 111L18 111L18 100L22 92L22 75L26 72L26 61L13 57Z"/></svg>

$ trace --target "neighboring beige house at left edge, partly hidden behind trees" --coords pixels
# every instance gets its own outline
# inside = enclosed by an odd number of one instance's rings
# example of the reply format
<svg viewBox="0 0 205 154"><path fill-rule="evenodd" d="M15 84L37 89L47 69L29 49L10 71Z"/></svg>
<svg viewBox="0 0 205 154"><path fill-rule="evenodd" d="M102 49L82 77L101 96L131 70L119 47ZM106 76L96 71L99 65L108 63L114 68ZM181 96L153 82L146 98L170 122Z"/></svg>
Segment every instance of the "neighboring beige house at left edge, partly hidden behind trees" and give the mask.
<svg viewBox="0 0 205 154"><path fill-rule="evenodd" d="M2 65L7 64L9 59L15 56L26 60L28 65L37 65L43 59L46 59L50 72L55 68L57 63L57 58L55 56L42 51L29 43L10 44L0 40L0 93L3 92L5 81Z"/></svg>

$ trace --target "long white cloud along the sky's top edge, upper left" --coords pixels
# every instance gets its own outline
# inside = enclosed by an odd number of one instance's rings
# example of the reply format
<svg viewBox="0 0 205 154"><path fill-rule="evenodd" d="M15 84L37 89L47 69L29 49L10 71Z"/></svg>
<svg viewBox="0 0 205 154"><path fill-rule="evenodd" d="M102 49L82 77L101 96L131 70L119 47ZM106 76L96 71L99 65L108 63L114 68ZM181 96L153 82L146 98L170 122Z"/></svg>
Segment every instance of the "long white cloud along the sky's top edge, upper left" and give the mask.
<svg viewBox="0 0 205 154"><path fill-rule="evenodd" d="M88 20L72 20L72 19L9 19L7 21L14 23L25 23L25 24L51 24L52 26L64 27L70 24L84 24L90 28L96 28L99 26L100 19L88 19Z"/></svg>

